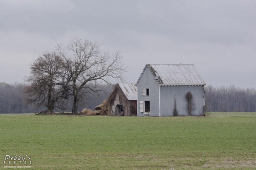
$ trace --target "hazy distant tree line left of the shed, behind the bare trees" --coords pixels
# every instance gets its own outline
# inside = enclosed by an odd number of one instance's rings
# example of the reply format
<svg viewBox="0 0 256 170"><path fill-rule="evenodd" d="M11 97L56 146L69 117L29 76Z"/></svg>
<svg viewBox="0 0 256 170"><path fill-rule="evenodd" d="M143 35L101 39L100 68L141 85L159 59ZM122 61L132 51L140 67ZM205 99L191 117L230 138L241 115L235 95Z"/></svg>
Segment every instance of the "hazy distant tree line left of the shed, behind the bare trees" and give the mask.
<svg viewBox="0 0 256 170"><path fill-rule="evenodd" d="M47 110L46 107L41 106L37 107L36 105L26 104L26 94L24 93L24 88L26 87L25 83L13 83L8 84L0 82L0 114L1 113L38 113L41 111ZM104 99L110 94L113 87L101 84L100 89L102 91L99 94L90 92L87 98L83 98L81 105L78 107L78 111L81 111L84 108L94 110L94 107L101 104ZM67 110L59 110L60 112L71 112L72 100L67 102Z"/></svg>

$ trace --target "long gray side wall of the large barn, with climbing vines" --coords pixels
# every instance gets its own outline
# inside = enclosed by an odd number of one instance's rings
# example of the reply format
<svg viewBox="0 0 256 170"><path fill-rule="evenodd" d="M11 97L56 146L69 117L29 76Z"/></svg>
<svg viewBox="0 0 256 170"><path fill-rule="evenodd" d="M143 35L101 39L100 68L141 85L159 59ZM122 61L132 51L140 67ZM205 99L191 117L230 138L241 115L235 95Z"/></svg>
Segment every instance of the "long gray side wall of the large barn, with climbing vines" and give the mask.
<svg viewBox="0 0 256 170"><path fill-rule="evenodd" d="M160 86L161 116L173 116L175 108L178 116L188 116L186 94L190 91L193 95L194 110L191 116L204 115L204 86Z"/></svg>

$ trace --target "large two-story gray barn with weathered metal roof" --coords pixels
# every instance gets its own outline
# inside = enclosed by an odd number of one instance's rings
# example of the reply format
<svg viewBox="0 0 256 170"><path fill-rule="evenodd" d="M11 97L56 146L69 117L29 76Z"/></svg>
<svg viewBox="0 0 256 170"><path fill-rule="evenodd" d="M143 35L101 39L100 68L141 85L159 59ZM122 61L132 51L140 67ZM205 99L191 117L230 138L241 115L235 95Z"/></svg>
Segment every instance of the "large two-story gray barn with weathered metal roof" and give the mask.
<svg viewBox="0 0 256 170"><path fill-rule="evenodd" d="M138 116L204 116L205 82L194 64L146 64L138 81Z"/></svg>

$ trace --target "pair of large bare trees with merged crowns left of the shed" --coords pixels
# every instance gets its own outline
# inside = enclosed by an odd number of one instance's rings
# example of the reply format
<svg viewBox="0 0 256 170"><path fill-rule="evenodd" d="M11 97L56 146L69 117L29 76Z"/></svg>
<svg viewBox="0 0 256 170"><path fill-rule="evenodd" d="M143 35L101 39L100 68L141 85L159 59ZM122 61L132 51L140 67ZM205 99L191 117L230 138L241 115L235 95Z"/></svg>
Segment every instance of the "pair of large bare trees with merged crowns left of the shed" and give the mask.
<svg viewBox="0 0 256 170"><path fill-rule="evenodd" d="M30 70L24 88L27 104L53 112L67 109L67 101L72 99L72 113L76 113L90 92L102 91L100 83L123 80L126 68L120 52L101 52L97 42L73 39L67 46L58 44L56 53L37 58Z"/></svg>

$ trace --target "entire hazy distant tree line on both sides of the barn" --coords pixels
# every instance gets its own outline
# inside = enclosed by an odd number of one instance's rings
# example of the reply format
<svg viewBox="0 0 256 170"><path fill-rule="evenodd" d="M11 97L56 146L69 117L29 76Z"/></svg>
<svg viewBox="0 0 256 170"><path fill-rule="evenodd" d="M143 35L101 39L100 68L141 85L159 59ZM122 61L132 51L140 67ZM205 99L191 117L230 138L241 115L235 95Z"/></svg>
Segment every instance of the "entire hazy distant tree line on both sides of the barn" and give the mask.
<svg viewBox="0 0 256 170"><path fill-rule="evenodd" d="M0 113L37 113L47 110L45 106L37 107L33 104L26 104L24 93L25 83L8 84L0 83ZM100 84L98 93L90 92L87 98L83 98L83 104L78 106L78 111L84 108L94 110L94 107L101 104L113 90L112 86ZM67 110L72 111L73 101L67 101ZM234 85L205 87L205 110L220 112L256 112L256 89L238 88Z"/></svg>

